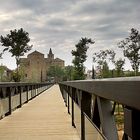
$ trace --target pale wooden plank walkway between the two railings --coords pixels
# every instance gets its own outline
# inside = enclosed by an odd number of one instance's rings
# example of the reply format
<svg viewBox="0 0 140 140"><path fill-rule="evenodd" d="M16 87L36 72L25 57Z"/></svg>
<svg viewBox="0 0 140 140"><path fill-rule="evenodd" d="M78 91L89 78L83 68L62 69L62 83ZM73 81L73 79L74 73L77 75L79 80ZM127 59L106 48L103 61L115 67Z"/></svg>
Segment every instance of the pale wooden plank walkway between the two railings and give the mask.
<svg viewBox="0 0 140 140"><path fill-rule="evenodd" d="M57 85L0 120L0 140L80 140Z"/></svg>

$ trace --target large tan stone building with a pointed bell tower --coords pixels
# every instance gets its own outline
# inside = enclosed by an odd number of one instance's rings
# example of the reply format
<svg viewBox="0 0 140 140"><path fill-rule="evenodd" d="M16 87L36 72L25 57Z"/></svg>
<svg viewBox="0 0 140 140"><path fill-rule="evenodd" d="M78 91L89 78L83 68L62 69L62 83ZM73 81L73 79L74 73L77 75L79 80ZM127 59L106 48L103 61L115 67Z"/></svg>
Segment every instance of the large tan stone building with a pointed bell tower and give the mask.
<svg viewBox="0 0 140 140"><path fill-rule="evenodd" d="M48 57L44 54L34 51L27 58L20 59L20 68L24 71L25 81L45 82L47 81L47 72L50 66L64 67L64 60L54 58L50 49Z"/></svg>

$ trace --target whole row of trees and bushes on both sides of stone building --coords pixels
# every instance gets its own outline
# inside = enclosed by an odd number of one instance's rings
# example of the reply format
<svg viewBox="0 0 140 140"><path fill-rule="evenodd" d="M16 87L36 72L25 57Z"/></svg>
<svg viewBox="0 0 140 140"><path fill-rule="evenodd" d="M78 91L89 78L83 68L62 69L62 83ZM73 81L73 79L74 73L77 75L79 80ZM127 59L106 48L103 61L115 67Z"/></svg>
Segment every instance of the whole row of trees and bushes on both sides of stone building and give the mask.
<svg viewBox="0 0 140 140"><path fill-rule="evenodd" d="M22 28L19 30L11 30L6 36L0 36L0 43L4 47L0 57L2 58L2 54L5 51L8 51L11 53L12 57L15 57L16 59L17 68L12 75L14 81L18 82L22 79L19 71L20 57L32 49L32 45L29 45L29 42L29 33ZM87 59L89 45L92 44L95 44L93 39L86 37L81 38L75 45L75 49L71 51L71 54L74 57L72 61L73 65L66 66L65 68L60 68L58 66L50 67L48 70L48 80L61 81L86 79L84 62ZM117 47L123 52L123 58L117 58L116 52L110 49L93 52L93 69L91 76L93 79L140 75L139 31L132 28L128 37L118 42ZM126 58L130 61L133 71L124 71ZM113 70L111 70L110 64L114 65ZM2 74L4 73L3 69L0 71Z"/></svg>

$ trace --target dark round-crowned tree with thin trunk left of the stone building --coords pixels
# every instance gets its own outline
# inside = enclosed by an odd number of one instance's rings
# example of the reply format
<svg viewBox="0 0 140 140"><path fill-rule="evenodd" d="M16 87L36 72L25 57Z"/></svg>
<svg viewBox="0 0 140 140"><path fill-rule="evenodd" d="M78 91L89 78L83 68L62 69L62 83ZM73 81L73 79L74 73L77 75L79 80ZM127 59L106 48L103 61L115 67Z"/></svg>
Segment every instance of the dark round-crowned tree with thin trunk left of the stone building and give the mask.
<svg viewBox="0 0 140 140"><path fill-rule="evenodd" d="M20 81L20 76L18 72L20 57L30 51L32 48L32 45L28 45L29 41L29 33L24 31L22 28L19 30L11 30L10 33L6 36L0 37L0 42L2 43L2 46L5 47L3 49L3 53L5 51L9 51L12 54L12 57L15 57L16 59L17 79L15 79L15 81Z"/></svg>

